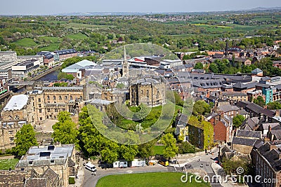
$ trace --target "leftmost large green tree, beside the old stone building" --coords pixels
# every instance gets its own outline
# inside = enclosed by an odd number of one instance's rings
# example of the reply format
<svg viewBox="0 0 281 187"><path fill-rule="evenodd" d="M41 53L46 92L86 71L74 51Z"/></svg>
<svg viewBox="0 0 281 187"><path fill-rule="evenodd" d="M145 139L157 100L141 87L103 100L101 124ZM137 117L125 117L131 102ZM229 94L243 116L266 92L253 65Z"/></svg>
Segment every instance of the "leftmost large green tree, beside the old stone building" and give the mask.
<svg viewBox="0 0 281 187"><path fill-rule="evenodd" d="M15 145L13 152L19 156L25 155L31 146L38 145L32 125L22 125L15 134Z"/></svg>

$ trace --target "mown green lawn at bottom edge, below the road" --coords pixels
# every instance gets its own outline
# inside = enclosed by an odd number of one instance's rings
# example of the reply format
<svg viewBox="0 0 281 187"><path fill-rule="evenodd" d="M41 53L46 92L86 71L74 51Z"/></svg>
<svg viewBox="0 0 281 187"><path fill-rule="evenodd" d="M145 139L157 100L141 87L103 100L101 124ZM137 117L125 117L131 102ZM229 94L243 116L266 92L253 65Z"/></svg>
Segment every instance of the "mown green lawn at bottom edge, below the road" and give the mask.
<svg viewBox="0 0 281 187"><path fill-rule="evenodd" d="M183 183L181 182L182 173L176 172L161 172L161 173L143 173L143 174L120 174L105 176L98 180L97 187L111 187L111 186L209 186L207 183L195 183L194 178L192 182Z"/></svg>

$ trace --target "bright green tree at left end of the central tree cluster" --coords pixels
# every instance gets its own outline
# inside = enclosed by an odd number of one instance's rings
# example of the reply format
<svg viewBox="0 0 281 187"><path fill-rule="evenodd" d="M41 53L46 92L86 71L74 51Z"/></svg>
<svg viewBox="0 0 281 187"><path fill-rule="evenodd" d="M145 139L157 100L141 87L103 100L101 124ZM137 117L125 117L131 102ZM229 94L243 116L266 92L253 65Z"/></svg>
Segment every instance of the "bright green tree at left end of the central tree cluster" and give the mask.
<svg viewBox="0 0 281 187"><path fill-rule="evenodd" d="M58 114L58 122L53 125L53 141L59 141L61 144L77 143L78 130L76 124L70 118L70 113L61 111Z"/></svg>

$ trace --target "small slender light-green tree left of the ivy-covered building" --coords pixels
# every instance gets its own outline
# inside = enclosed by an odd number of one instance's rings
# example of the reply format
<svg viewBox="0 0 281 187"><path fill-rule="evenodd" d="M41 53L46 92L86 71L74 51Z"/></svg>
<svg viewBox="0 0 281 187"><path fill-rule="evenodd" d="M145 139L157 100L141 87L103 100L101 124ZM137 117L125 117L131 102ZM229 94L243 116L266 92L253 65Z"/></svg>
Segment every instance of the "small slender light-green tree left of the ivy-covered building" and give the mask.
<svg viewBox="0 0 281 187"><path fill-rule="evenodd" d="M178 147L176 146L176 139L173 137L171 133L165 134L164 137L162 137L162 143L164 146L164 157L170 158L174 157L178 153Z"/></svg>

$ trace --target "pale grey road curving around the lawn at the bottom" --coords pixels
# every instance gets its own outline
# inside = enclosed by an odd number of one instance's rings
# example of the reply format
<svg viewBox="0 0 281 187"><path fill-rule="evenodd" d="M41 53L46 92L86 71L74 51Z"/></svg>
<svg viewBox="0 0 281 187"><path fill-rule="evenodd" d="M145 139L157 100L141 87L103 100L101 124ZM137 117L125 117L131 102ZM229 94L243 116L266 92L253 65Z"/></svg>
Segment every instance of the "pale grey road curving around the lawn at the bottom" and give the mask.
<svg viewBox="0 0 281 187"><path fill-rule="evenodd" d="M217 153L214 155L202 155L196 156L193 158L183 158L179 159L178 162L180 166L185 166L188 172L189 170L202 169L208 176L211 178L214 176L214 171L211 168L211 163L214 162L214 158L216 158ZM184 169L184 168L183 168ZM163 167L162 165L155 166L145 166L145 167L130 167L130 168L110 168L110 169L98 169L96 172L96 176L92 174L87 169L84 169L84 181L81 186L83 187L93 187L96 186L98 179L103 176L112 175L112 174L133 174L133 173L147 173L147 172L182 172L182 167L178 167L178 165ZM181 180L181 179L178 179ZM221 186L219 183L211 183L211 186Z"/></svg>

